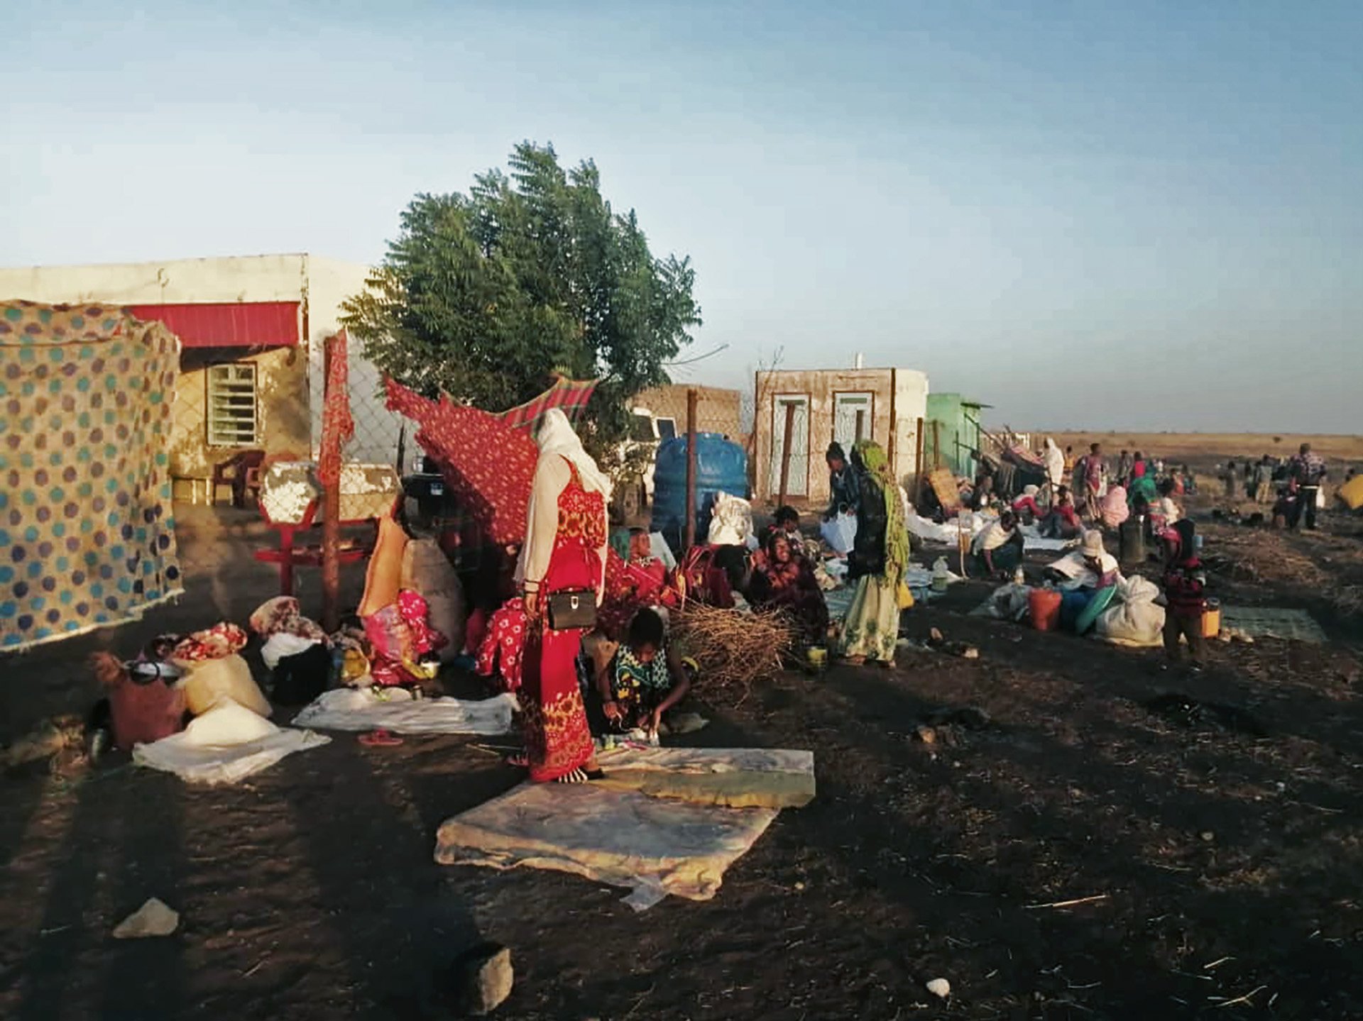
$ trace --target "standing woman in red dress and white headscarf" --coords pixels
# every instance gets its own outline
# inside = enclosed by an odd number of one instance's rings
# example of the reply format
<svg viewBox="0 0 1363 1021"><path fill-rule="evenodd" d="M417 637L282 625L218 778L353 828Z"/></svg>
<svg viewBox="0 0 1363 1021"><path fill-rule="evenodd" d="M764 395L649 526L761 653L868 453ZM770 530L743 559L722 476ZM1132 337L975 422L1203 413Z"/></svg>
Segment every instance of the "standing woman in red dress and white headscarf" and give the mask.
<svg viewBox="0 0 1363 1021"><path fill-rule="evenodd" d="M583 592L601 604L611 480L557 408L545 414L537 443L519 566L527 619L521 668L526 758L532 780L582 782L600 776L578 687L583 633L555 631L548 603L556 592Z"/></svg>

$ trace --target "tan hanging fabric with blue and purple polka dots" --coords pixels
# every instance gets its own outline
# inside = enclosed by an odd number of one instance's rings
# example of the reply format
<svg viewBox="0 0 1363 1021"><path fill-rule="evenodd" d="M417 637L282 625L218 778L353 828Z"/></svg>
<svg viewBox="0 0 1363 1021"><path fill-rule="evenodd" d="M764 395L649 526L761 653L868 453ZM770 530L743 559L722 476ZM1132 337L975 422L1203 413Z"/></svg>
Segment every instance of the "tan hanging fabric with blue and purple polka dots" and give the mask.
<svg viewBox="0 0 1363 1021"><path fill-rule="evenodd" d="M180 342L110 305L0 301L0 649L181 592L170 506Z"/></svg>

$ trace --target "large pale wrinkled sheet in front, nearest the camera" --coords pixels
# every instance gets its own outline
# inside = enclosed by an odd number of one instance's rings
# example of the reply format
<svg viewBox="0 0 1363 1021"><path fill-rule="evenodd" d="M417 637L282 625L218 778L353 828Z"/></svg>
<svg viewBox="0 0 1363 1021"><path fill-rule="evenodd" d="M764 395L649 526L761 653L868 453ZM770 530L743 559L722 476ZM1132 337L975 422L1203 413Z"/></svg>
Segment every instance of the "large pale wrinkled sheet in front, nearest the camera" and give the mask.
<svg viewBox="0 0 1363 1021"><path fill-rule="evenodd" d="M718 808L593 784L522 784L447 819L435 860L549 868L630 889L645 911L669 893L714 897L777 808Z"/></svg>

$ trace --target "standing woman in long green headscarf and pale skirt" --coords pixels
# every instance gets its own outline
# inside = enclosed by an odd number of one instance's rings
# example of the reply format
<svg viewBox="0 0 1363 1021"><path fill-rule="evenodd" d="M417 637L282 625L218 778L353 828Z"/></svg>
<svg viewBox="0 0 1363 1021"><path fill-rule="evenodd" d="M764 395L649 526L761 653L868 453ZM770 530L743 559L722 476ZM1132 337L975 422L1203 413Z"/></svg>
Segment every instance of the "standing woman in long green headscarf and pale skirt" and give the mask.
<svg viewBox="0 0 1363 1021"><path fill-rule="evenodd" d="M900 487L879 443L860 440L852 466L861 487L856 508L856 540L848 556L848 581L856 583L842 622L842 654L848 662L894 664L900 638L900 579L909 562Z"/></svg>

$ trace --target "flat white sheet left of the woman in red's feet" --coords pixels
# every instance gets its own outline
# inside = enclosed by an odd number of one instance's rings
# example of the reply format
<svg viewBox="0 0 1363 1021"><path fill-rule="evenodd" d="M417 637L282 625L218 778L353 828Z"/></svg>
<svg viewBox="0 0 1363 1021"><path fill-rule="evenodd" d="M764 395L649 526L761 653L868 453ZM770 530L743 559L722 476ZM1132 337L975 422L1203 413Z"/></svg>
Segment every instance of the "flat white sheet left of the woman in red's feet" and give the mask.
<svg viewBox="0 0 1363 1021"><path fill-rule="evenodd" d="M393 688L379 698L369 688L323 691L293 717L294 727L318 731L375 731L394 733L507 733L514 695L500 694L481 701L461 698L412 698Z"/></svg>

